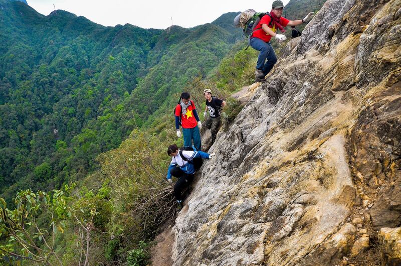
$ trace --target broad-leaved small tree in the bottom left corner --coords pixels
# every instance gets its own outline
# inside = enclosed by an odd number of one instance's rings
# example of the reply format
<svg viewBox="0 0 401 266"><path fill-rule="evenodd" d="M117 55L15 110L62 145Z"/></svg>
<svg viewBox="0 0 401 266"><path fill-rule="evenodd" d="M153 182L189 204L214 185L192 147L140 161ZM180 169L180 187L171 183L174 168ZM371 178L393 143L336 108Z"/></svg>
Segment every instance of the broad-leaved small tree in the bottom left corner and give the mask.
<svg viewBox="0 0 401 266"><path fill-rule="evenodd" d="M45 192L35 194L29 189L21 190L15 198L17 208L14 210L9 210L5 200L0 198L0 235L8 239L8 244L0 245L0 257L9 255L51 265L49 258L55 256L58 263L63 264L54 251L54 243L55 233L64 232L57 212L66 209L66 201L62 191L54 192L51 200ZM45 228L40 228L37 220L42 214L49 215Z"/></svg>

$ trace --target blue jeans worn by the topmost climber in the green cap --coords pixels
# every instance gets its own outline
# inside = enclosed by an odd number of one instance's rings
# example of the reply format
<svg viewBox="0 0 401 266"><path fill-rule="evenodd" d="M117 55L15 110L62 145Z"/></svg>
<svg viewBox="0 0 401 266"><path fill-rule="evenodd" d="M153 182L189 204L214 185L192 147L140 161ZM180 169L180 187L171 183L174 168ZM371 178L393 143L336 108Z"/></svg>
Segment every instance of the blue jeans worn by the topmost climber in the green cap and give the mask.
<svg viewBox="0 0 401 266"><path fill-rule="evenodd" d="M266 76L277 62L274 49L270 43L266 43L259 38L252 38L250 44L253 49L260 51L256 68L262 70ZM266 59L267 62L265 64Z"/></svg>

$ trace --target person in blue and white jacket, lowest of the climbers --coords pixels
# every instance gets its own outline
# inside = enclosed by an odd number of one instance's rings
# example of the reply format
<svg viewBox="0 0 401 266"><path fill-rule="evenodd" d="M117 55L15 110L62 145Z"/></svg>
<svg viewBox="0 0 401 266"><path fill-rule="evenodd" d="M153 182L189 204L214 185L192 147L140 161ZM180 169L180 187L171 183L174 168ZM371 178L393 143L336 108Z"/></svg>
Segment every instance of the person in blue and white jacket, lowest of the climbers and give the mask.
<svg viewBox="0 0 401 266"><path fill-rule="evenodd" d="M172 176L178 178L174 184L174 196L178 203L177 209L180 210L182 208L182 191L193 181L193 174L202 166L202 159L211 159L215 154L204 153L196 149L180 151L175 144L168 146L167 154L172 157L168 166L167 181L172 183Z"/></svg>

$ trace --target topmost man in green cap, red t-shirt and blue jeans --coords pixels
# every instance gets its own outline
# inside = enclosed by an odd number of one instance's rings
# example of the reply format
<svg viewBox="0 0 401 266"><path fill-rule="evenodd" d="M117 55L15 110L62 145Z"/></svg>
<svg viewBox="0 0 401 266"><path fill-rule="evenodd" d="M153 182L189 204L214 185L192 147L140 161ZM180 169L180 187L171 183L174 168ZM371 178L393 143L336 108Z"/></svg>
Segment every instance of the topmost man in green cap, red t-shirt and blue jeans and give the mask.
<svg viewBox="0 0 401 266"><path fill-rule="evenodd" d="M260 51L255 71L256 82L265 82L265 76L270 72L270 70L272 70L274 64L277 62L276 54L272 45L269 43L270 39L272 37L275 37L278 41L285 41L287 39L285 35L277 34L277 29L284 33L284 27L297 26L306 23L313 17L313 12L311 12L302 20L290 21L281 17L283 14L283 8L283 2L279 0L274 1L270 14L262 17L250 37L251 47Z"/></svg>

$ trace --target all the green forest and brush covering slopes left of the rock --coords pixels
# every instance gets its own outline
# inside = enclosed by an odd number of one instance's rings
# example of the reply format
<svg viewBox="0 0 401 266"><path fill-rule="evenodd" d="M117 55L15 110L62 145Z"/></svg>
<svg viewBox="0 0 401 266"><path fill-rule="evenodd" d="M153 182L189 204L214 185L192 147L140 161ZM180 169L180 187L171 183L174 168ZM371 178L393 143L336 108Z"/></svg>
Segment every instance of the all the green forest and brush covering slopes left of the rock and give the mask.
<svg viewBox="0 0 401 266"><path fill-rule="evenodd" d="M230 94L254 80L258 53L244 49L237 14L190 29L104 27L0 0L0 257L146 264L174 212L165 147L182 144L179 93L202 109L204 88L225 98L225 130L242 107Z"/></svg>

